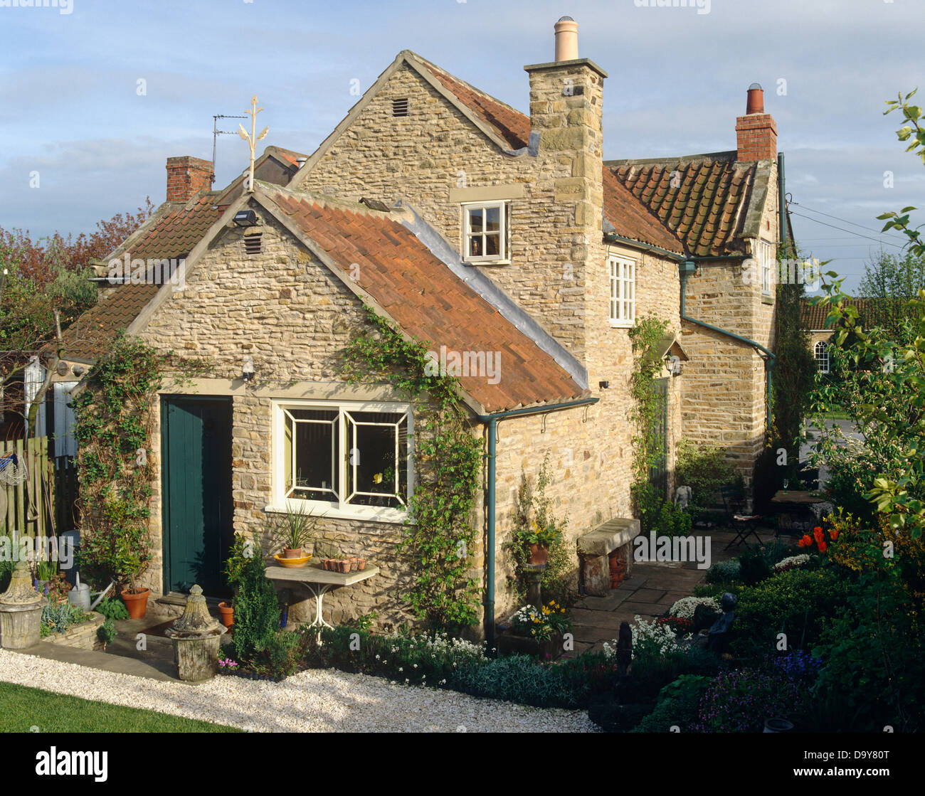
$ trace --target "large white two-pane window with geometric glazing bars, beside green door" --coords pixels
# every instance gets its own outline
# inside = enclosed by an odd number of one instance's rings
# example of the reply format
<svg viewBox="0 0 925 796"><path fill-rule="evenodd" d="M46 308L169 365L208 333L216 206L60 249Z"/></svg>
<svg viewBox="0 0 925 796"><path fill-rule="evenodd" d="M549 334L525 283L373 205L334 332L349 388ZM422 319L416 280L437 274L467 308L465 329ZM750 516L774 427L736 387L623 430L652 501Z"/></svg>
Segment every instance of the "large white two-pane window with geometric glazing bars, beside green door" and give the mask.
<svg viewBox="0 0 925 796"><path fill-rule="evenodd" d="M273 503L327 517L401 521L413 489L407 404L274 404Z"/></svg>

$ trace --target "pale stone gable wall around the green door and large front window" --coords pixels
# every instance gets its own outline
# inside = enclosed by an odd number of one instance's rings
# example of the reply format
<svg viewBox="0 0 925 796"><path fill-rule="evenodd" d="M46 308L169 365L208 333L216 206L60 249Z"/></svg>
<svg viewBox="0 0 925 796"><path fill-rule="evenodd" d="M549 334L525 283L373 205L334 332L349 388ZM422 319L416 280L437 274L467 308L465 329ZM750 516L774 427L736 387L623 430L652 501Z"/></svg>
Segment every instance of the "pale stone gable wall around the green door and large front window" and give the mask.
<svg viewBox="0 0 925 796"><path fill-rule="evenodd" d="M192 385L180 381L166 386L162 394L232 397L233 522L236 533L247 534L262 532L269 516L265 509L273 502L274 399L400 399L388 386L374 392L357 390L339 377L341 351L351 332L366 323L360 301L272 217L257 212L263 252L244 253L241 231L225 231L187 276L186 288L166 301L140 335L162 352L207 358L213 365L213 378ZM253 356L256 371L247 385L240 380L245 355ZM155 558L144 580L155 595L163 593L159 420L155 410L149 457L156 473L151 506ZM384 621L410 617L405 599L410 574L401 572L395 555L400 536L400 523L327 518L319 522L318 539L343 555L362 555L382 568L375 578L326 598L326 609L333 610L335 620L374 609ZM306 594L300 596L304 599ZM309 608L314 611L314 600L311 606L296 606L292 617L305 618Z"/></svg>

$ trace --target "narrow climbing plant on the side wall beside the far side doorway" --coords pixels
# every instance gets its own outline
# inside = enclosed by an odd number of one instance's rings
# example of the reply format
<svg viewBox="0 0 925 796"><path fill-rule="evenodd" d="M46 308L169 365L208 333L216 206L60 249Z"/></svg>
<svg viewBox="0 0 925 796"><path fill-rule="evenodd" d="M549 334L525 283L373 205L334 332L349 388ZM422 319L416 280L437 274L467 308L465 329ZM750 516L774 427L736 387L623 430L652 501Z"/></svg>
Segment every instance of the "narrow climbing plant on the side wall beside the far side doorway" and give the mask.
<svg viewBox="0 0 925 796"><path fill-rule="evenodd" d="M630 489L643 533L648 533L664 499L664 496L649 484L648 472L659 457L659 451L653 444L653 430L659 417L660 403L658 395L652 389L652 379L660 372L662 362L655 355L655 349L665 337L667 329L668 321L649 313L637 319L629 330L634 355L633 373L630 375L630 395L633 398L630 419L635 424L633 484Z"/></svg>

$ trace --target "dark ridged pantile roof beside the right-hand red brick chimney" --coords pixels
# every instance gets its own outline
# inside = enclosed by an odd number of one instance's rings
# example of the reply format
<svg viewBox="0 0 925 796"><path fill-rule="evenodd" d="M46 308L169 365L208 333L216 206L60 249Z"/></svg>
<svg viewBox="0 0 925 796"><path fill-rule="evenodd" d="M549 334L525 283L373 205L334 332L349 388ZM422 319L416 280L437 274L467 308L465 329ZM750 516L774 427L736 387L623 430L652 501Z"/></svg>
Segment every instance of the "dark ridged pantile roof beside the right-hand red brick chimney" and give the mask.
<svg viewBox="0 0 925 796"><path fill-rule="evenodd" d="M745 253L742 235L759 166L735 153L609 161L611 171L697 257Z"/></svg>

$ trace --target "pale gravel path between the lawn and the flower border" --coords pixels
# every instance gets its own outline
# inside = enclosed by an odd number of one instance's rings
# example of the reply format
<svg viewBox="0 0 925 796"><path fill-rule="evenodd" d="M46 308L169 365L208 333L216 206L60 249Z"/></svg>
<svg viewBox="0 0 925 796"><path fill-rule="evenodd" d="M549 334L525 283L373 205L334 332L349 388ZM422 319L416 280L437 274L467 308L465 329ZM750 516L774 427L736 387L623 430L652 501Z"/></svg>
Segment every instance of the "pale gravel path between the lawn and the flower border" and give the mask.
<svg viewBox="0 0 925 796"><path fill-rule="evenodd" d="M586 711L528 707L392 685L334 669L280 683L148 680L0 650L0 680L256 732L594 732Z"/></svg>

